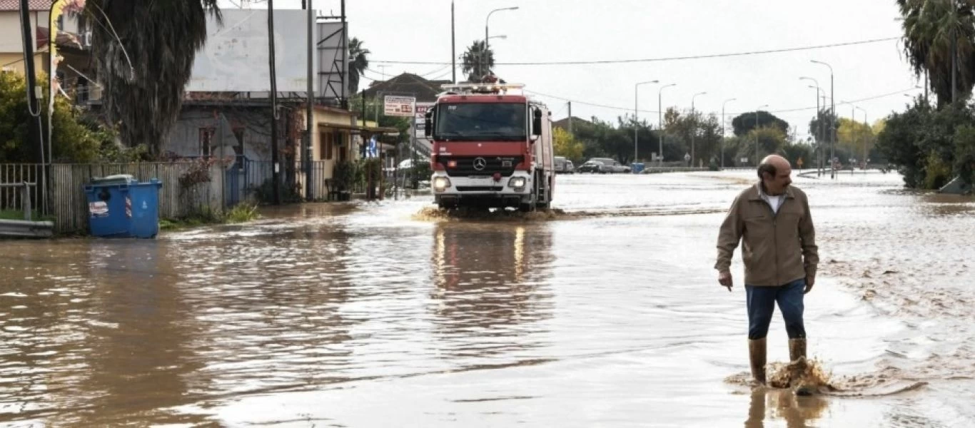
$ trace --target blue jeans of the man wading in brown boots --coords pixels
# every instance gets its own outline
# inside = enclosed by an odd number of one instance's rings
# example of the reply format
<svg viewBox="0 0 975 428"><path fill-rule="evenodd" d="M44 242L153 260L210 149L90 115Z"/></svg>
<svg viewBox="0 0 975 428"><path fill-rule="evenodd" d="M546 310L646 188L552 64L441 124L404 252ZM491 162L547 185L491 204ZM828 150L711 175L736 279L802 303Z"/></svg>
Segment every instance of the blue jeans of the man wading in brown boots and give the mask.
<svg viewBox="0 0 975 428"><path fill-rule="evenodd" d="M805 337L802 326L802 292L805 280L796 280L779 287L745 286L748 296L748 338L761 339L768 334L768 325L775 313L775 303L779 303L782 318L786 321L789 338Z"/></svg>

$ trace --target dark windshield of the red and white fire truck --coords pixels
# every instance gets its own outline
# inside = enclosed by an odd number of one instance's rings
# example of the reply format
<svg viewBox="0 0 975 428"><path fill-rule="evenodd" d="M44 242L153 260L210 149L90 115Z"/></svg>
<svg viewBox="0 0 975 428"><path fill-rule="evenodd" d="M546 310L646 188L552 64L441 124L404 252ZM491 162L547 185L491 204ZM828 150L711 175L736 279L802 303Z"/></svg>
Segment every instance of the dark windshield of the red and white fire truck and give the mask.
<svg viewBox="0 0 975 428"><path fill-rule="evenodd" d="M437 110L436 136L450 141L517 141L526 138L526 125L524 103L441 104Z"/></svg>

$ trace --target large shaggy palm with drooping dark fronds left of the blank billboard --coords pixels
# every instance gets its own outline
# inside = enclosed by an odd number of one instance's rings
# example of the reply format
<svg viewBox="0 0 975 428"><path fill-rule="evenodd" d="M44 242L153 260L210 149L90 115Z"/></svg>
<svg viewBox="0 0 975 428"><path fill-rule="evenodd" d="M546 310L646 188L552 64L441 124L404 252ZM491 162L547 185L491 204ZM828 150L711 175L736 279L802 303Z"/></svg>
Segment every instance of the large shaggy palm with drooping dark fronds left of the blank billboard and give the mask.
<svg viewBox="0 0 975 428"><path fill-rule="evenodd" d="M91 29L104 109L126 144L145 143L158 156L206 42L207 13L221 21L216 0L86 3L85 14L101 22Z"/></svg>

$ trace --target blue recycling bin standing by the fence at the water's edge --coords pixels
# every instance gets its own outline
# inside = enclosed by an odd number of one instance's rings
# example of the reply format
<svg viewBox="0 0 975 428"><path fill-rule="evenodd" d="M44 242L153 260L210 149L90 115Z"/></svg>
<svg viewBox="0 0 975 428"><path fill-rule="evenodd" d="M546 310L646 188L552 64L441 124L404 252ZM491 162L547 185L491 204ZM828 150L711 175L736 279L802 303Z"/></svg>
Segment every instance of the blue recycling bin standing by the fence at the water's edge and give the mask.
<svg viewBox="0 0 975 428"><path fill-rule="evenodd" d="M155 238L162 186L156 178L139 182L132 175L92 179L85 185L89 232L102 238Z"/></svg>

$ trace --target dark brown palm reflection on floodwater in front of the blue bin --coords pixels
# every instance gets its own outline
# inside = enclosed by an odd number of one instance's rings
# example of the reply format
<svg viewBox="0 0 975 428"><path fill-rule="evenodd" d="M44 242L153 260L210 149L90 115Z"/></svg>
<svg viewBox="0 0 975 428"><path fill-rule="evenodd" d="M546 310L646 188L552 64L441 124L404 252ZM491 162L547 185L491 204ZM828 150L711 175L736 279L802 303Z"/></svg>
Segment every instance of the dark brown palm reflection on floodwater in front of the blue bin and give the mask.
<svg viewBox="0 0 975 428"><path fill-rule="evenodd" d="M135 241L97 243L88 252L95 312L82 383L91 399L77 414L79 425L117 425L134 416L147 424L202 421L166 410L188 403L190 382L206 382L189 348L195 326L168 251Z"/></svg>

